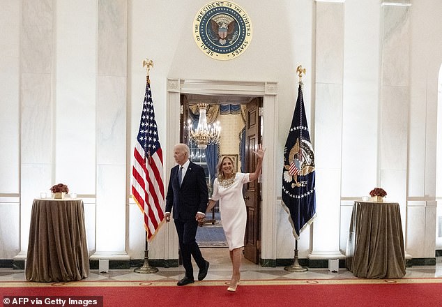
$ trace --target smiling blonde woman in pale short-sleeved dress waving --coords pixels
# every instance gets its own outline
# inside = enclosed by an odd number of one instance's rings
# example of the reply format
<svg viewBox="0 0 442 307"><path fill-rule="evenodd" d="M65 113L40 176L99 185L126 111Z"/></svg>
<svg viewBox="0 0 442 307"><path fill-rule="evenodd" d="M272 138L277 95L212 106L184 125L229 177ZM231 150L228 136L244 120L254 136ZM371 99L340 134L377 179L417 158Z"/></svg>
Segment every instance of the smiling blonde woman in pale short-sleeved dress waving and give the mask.
<svg viewBox="0 0 442 307"><path fill-rule="evenodd" d="M230 260L233 267L230 285L227 291L235 292L241 278L241 258L244 247L245 225L247 215L243 197L243 184L258 179L261 174L264 152L259 145L258 151L253 151L258 157L257 168L252 173L236 172L234 162L228 156L221 158L218 163L218 177L213 182L213 194L208 202L207 211L220 202L222 227L229 244Z"/></svg>

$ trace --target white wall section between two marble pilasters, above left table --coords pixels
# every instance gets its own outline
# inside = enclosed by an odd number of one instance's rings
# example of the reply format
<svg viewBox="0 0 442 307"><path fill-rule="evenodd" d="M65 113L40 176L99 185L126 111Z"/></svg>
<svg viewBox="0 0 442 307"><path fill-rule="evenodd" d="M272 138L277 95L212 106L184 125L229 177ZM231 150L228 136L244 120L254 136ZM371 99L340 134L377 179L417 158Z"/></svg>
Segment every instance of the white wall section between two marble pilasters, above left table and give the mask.
<svg viewBox="0 0 442 307"><path fill-rule="evenodd" d="M54 183L94 195L96 165L97 5L56 1L54 7Z"/></svg>

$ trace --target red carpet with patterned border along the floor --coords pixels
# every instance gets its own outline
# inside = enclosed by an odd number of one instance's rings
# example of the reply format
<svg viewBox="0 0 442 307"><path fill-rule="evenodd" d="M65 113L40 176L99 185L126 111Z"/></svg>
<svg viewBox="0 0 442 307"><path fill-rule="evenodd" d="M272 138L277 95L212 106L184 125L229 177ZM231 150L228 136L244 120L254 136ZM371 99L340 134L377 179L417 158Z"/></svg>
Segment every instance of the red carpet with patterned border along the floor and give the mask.
<svg viewBox="0 0 442 307"><path fill-rule="evenodd" d="M414 278L416 280L416 278ZM178 287L167 282L89 282L93 286L36 284L4 287L1 296L78 297L102 296L104 306L442 306L442 280L422 278L422 283L401 279L349 283L349 280L278 280L282 284L258 285L275 280L246 280L236 293L226 285L204 282ZM364 282L364 280L362 280ZM334 282L334 283L333 283ZM345 283L346 282L346 283ZM357 280L356 280L357 282ZM131 283L128 286L118 284ZM302 284L303 283L303 284ZM325 284L324 284L325 283ZM7 305L3 302L3 307ZM9 305L12 306L12 305ZM31 305L26 305L31 306ZM45 305L40 305L45 306ZM49 306L49 305L48 305ZM54 307L54 305L50 305ZM93 305L89 305L93 306ZM66 307L66 306L65 306Z"/></svg>

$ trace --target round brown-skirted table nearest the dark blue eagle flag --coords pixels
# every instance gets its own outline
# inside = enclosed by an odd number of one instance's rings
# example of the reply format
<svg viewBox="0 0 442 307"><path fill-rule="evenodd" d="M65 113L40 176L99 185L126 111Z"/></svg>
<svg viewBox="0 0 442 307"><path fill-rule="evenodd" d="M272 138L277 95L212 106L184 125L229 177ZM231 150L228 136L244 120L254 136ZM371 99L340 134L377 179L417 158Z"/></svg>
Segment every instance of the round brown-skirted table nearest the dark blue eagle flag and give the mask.
<svg viewBox="0 0 442 307"><path fill-rule="evenodd" d="M361 278L405 275L404 235L397 202L354 202L346 267Z"/></svg>

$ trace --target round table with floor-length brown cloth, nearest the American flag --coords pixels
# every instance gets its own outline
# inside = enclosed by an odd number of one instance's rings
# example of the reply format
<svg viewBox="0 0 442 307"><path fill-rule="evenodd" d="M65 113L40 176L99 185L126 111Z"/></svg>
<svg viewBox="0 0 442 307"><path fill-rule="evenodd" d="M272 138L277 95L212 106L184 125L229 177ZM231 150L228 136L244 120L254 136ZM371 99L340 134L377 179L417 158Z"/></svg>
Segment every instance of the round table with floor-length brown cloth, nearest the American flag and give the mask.
<svg viewBox="0 0 442 307"><path fill-rule="evenodd" d="M25 274L38 282L89 276L83 200L33 200Z"/></svg>

